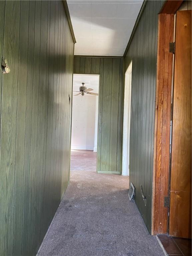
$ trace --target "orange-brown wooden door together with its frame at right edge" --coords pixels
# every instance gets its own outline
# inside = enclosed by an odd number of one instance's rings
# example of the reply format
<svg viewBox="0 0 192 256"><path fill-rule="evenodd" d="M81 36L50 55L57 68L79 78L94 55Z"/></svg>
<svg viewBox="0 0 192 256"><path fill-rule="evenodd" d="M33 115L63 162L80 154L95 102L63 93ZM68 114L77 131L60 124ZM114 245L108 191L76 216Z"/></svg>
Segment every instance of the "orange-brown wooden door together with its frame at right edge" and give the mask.
<svg viewBox="0 0 192 256"><path fill-rule="evenodd" d="M188 242L191 238L191 10L183 7L178 10L178 2L167 1L158 22L152 233Z"/></svg>

